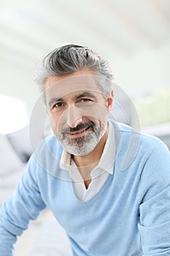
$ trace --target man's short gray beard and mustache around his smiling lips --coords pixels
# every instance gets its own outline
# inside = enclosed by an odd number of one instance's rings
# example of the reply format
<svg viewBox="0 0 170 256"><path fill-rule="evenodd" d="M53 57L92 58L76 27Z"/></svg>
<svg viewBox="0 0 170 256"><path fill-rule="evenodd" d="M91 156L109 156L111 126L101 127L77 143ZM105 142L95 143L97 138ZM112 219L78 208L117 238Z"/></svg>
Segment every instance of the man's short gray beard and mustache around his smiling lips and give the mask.
<svg viewBox="0 0 170 256"><path fill-rule="evenodd" d="M70 154L77 156L88 154L93 151L94 148L96 148L97 144L107 130L107 121L104 123L99 121L99 123L99 127L96 127L96 124L94 124L92 121L89 121L86 124L79 124L75 128L63 129L61 132L58 132L57 138L64 150ZM78 131L79 129L83 129L85 127L91 127L92 131L89 131L85 136L80 138L66 138L66 135L68 135L69 132Z"/></svg>

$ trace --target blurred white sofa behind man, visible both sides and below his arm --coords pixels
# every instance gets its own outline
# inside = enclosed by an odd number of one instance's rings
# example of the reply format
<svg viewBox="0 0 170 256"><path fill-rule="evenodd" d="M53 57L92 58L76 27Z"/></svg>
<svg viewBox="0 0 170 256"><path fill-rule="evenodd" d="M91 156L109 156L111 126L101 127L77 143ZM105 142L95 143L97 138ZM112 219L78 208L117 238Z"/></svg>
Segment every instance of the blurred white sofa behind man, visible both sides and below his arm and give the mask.
<svg viewBox="0 0 170 256"><path fill-rule="evenodd" d="M118 119L119 116L116 117ZM121 120L120 120L121 121ZM39 131L39 129L38 129ZM153 127L145 127L142 132L158 136L170 149L170 123L159 124ZM43 139L41 134L36 135L36 144ZM36 147L36 145L34 145ZM32 147L29 140L29 129L12 132L8 135L0 134L0 206L4 200L12 194L18 184L29 157ZM46 210L48 211L48 210ZM35 222L34 227L37 227ZM36 230L37 228L35 228ZM28 233L30 234L30 233ZM30 236L28 236L30 237ZM21 238L22 239L22 238ZM27 242L27 240L26 240ZM25 247L23 247L23 251ZM30 248L28 256L69 256L72 255L68 238L63 228L51 215L40 222L40 227L34 244ZM18 255L23 255L18 254Z"/></svg>

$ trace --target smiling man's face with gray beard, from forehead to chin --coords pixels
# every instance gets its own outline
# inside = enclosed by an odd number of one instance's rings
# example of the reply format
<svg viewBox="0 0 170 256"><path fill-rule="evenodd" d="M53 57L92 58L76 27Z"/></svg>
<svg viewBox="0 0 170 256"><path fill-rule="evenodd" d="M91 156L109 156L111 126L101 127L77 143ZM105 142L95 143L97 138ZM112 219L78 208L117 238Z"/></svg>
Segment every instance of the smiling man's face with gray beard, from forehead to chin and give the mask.
<svg viewBox="0 0 170 256"><path fill-rule="evenodd" d="M74 155L93 151L107 131L112 97L103 97L89 71L49 77L45 89L50 122L61 146Z"/></svg>

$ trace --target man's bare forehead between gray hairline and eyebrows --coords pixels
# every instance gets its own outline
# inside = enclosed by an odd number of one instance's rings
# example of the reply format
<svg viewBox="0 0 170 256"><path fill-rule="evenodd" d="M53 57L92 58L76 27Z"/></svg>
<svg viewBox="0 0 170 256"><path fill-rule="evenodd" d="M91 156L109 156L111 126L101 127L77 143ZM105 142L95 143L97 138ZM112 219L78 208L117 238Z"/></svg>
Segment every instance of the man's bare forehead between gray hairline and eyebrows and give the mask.
<svg viewBox="0 0 170 256"><path fill-rule="evenodd" d="M101 93L97 76L92 74L53 76L47 78L45 82L45 97L47 101L52 97L61 98L79 91Z"/></svg>

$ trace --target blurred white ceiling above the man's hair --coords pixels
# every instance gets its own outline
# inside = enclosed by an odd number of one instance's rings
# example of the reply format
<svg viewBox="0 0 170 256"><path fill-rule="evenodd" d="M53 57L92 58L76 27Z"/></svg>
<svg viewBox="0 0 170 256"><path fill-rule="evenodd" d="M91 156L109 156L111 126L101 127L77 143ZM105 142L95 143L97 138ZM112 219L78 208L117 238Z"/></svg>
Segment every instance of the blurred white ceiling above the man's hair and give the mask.
<svg viewBox="0 0 170 256"><path fill-rule="evenodd" d="M109 59L170 40L169 0L0 0L0 58L28 67L70 42Z"/></svg>

